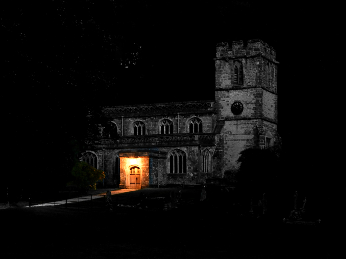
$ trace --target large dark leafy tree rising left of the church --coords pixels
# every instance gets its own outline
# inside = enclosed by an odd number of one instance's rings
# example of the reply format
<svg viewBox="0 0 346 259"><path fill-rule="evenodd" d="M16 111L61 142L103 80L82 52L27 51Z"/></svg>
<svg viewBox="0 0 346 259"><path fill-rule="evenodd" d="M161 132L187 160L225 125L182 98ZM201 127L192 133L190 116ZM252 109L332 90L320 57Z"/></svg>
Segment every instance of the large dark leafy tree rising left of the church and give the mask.
<svg viewBox="0 0 346 259"><path fill-rule="evenodd" d="M116 105L117 89L135 74L142 53L127 32L133 25L124 26L121 17L127 7L112 1L49 1L4 8L8 163L18 167L18 177L10 176L8 183L64 184L85 150L84 140L107 128L101 107ZM23 170L25 165L35 170Z"/></svg>

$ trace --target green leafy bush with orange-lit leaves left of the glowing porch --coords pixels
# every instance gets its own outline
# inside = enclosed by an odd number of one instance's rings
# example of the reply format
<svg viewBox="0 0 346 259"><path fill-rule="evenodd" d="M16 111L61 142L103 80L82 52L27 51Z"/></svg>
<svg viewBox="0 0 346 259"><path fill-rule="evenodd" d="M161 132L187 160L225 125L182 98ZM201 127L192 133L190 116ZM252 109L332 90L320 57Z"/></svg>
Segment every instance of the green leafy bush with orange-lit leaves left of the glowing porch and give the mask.
<svg viewBox="0 0 346 259"><path fill-rule="evenodd" d="M102 170L98 170L83 161L76 162L71 173L73 180L70 184L76 185L82 190L96 190L96 182L105 178Z"/></svg>

